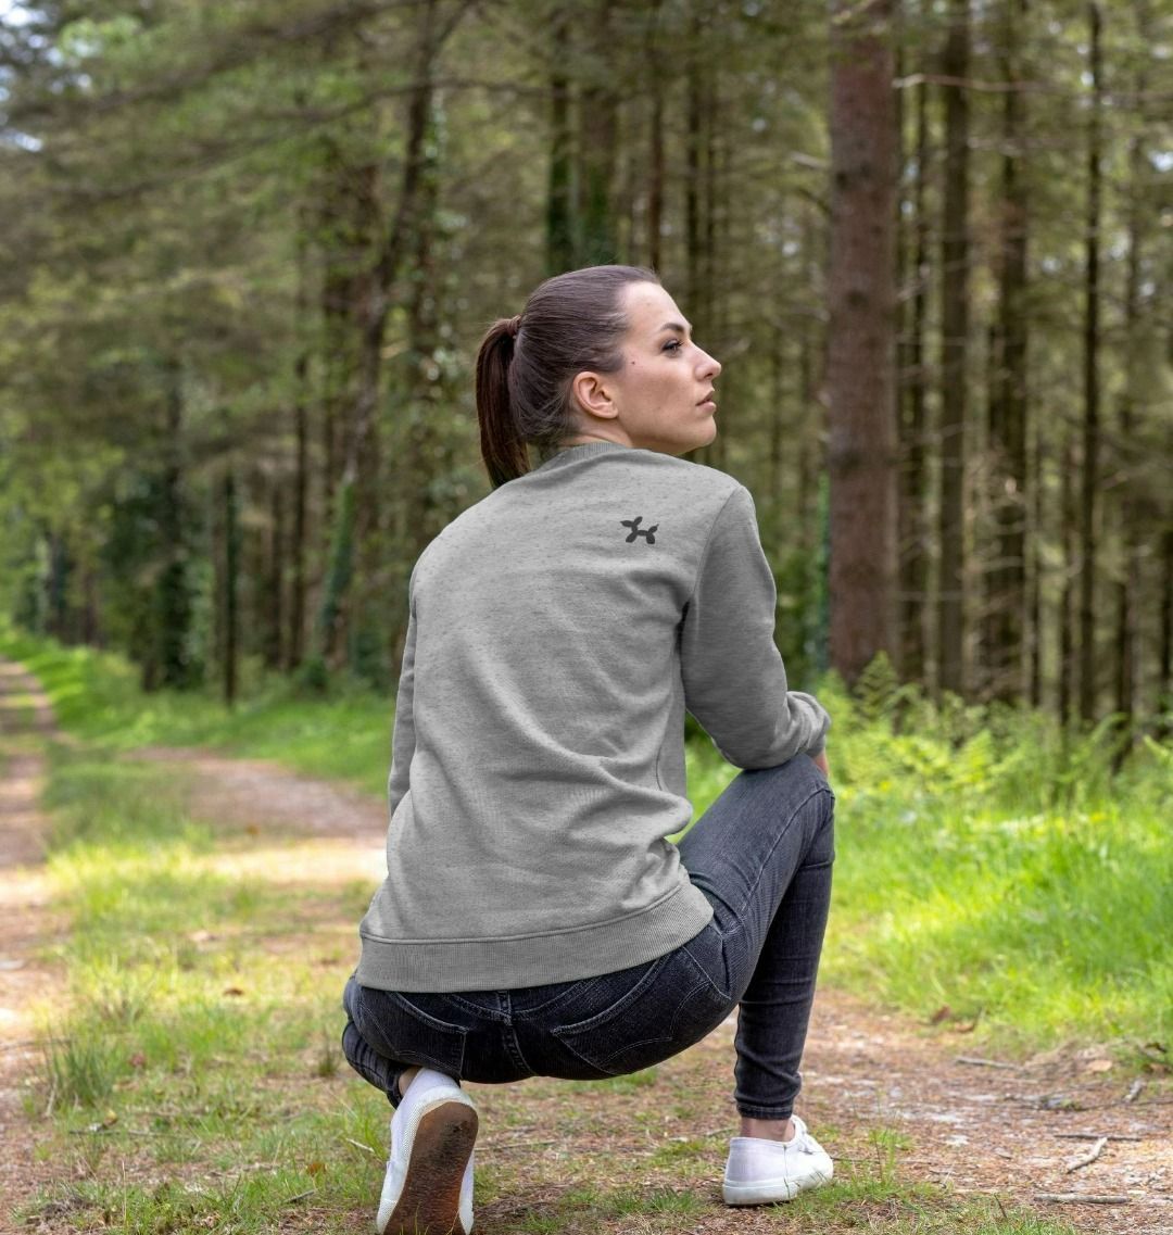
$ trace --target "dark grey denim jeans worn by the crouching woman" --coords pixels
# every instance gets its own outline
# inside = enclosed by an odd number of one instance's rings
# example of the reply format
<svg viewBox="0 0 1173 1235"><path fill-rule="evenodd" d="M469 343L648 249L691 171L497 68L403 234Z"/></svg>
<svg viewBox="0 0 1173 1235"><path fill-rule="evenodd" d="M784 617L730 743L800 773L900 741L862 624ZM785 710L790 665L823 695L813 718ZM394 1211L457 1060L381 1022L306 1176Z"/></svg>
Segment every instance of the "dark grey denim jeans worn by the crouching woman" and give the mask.
<svg viewBox="0 0 1173 1235"><path fill-rule="evenodd" d="M787 1119L831 898L833 816L809 755L742 771L680 841L714 909L694 939L628 969L516 990L401 994L352 977L346 1057L396 1107L399 1074L415 1065L486 1084L596 1081L679 1053L740 1005L737 1110Z"/></svg>

